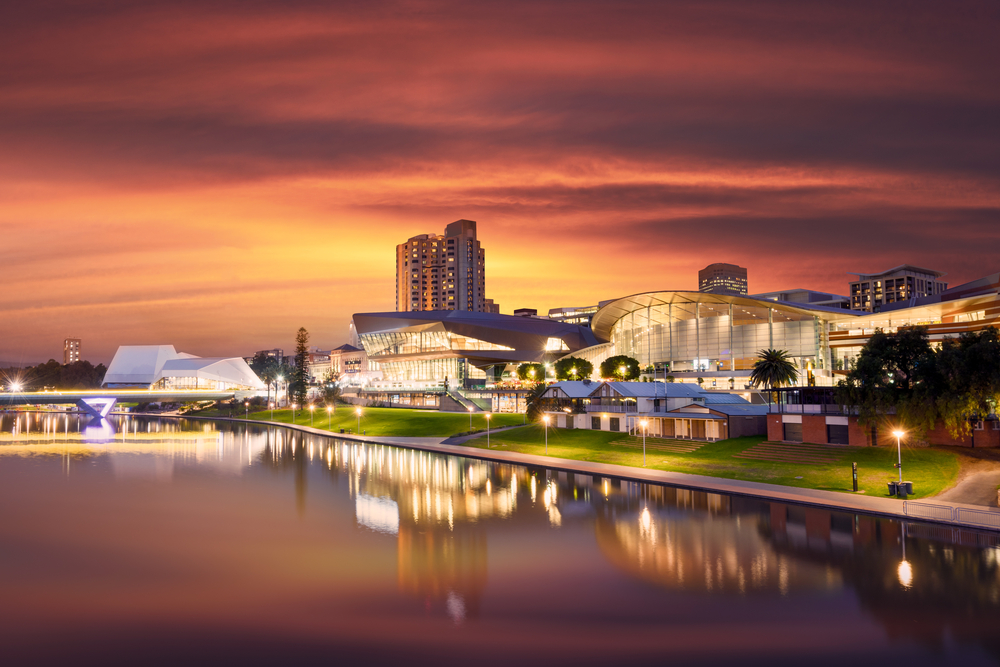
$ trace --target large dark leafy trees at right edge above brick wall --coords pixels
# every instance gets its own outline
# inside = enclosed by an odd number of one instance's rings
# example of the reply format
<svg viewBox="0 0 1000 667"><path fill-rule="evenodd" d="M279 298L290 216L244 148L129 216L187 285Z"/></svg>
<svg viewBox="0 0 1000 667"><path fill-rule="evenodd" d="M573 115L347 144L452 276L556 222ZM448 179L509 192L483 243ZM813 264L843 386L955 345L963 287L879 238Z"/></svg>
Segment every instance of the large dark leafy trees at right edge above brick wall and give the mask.
<svg viewBox="0 0 1000 667"><path fill-rule="evenodd" d="M901 426L917 434L940 423L951 435L966 436L974 421L996 414L1000 335L988 327L935 348L924 327L876 331L838 384L837 400L855 409L866 426L895 413Z"/></svg>

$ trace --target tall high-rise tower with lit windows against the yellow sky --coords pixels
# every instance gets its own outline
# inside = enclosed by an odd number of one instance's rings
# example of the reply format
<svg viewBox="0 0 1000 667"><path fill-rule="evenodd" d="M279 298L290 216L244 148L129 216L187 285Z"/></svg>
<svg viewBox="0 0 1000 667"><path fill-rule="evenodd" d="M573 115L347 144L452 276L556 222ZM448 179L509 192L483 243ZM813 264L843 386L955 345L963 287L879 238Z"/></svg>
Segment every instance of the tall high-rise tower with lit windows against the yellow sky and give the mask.
<svg viewBox="0 0 1000 667"><path fill-rule="evenodd" d="M475 221L457 220L443 235L420 234L396 246L397 312L488 312L491 307L486 254L476 238Z"/></svg>

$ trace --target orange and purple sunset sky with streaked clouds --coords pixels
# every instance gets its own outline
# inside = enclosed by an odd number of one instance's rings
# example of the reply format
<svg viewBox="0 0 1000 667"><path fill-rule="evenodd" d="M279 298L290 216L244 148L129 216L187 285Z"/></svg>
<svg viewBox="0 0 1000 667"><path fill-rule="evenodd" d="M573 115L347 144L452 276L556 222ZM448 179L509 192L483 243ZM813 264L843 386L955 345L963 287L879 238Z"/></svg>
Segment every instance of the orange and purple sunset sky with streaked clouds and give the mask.
<svg viewBox="0 0 1000 667"><path fill-rule="evenodd" d="M2 361L339 345L459 218L506 313L1000 270L995 1L2 6Z"/></svg>

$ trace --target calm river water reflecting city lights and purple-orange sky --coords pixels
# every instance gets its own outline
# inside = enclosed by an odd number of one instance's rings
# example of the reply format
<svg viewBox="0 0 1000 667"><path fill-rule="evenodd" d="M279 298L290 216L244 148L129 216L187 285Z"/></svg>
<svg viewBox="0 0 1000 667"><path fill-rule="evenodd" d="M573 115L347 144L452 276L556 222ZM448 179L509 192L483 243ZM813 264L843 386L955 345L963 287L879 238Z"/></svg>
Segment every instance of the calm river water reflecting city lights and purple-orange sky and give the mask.
<svg viewBox="0 0 1000 667"><path fill-rule="evenodd" d="M996 533L223 422L0 417L0 664L998 664Z"/></svg>

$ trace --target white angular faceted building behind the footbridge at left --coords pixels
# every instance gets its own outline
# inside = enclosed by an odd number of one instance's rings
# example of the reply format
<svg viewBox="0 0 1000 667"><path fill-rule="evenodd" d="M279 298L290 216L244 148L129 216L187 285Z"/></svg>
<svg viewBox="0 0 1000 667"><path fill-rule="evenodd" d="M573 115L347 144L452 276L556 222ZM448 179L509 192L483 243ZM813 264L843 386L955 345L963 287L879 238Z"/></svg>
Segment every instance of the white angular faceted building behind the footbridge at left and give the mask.
<svg viewBox="0 0 1000 667"><path fill-rule="evenodd" d="M122 345L108 366L104 386L147 389L263 390L241 357L196 357L173 345Z"/></svg>

